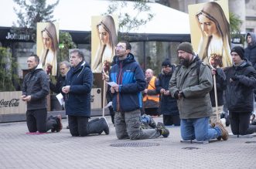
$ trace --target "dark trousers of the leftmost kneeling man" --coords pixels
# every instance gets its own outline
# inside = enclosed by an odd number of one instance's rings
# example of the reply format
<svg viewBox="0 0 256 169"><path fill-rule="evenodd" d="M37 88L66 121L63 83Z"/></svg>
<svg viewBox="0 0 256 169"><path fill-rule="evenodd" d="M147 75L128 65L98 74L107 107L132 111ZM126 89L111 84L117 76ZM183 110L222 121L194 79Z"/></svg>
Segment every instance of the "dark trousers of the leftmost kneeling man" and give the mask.
<svg viewBox="0 0 256 169"><path fill-rule="evenodd" d="M26 124L30 133L36 131L39 131L39 133L46 133L46 131L53 129L56 125L56 119L53 117L47 119L46 109L27 110Z"/></svg>

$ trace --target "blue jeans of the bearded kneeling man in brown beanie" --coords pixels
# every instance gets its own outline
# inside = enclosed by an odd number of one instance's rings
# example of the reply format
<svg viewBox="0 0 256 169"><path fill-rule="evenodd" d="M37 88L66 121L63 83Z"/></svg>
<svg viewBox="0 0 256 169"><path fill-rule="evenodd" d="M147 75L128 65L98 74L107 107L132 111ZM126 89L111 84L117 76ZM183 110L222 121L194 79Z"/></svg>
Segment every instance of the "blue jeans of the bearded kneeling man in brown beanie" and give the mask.
<svg viewBox="0 0 256 169"><path fill-rule="evenodd" d="M210 127L209 117L182 119L180 132L183 140L210 140L221 136L219 127Z"/></svg>

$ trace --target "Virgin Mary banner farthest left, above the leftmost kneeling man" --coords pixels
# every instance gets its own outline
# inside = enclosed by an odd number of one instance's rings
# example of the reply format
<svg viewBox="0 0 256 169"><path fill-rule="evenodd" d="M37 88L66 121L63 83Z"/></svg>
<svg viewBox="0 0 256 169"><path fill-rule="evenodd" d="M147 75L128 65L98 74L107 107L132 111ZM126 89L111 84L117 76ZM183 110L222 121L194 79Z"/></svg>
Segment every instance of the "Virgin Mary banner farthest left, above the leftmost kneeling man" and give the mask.
<svg viewBox="0 0 256 169"><path fill-rule="evenodd" d="M36 53L46 73L57 74L57 50L59 47L59 24L38 22L36 28Z"/></svg>

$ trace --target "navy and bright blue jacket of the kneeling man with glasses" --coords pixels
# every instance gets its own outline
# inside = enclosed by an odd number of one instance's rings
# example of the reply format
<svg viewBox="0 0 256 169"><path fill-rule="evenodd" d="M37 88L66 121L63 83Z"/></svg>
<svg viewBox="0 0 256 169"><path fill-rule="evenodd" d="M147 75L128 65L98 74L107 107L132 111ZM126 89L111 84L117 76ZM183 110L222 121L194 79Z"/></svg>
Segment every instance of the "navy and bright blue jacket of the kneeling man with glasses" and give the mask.
<svg viewBox="0 0 256 169"><path fill-rule="evenodd" d="M142 91L145 90L142 68L131 53L125 60L117 58L116 61L110 73L110 82L119 85L119 92L113 95L114 111L128 112L142 108Z"/></svg>

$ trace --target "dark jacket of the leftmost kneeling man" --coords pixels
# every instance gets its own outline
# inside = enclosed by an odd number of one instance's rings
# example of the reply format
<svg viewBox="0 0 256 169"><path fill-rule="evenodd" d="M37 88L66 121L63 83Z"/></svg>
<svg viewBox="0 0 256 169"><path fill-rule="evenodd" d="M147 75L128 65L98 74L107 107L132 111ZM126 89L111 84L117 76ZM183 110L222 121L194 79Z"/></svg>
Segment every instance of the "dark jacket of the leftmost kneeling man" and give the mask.
<svg viewBox="0 0 256 169"><path fill-rule="evenodd" d="M46 96L49 94L49 76L43 69L32 69L23 79L22 95L31 95L27 110L47 107Z"/></svg>

